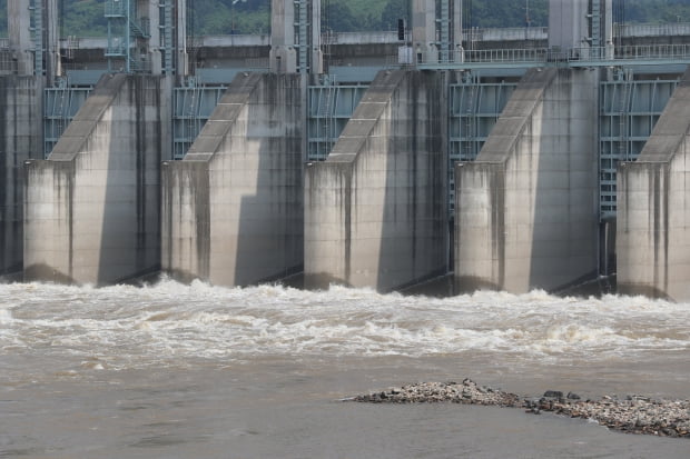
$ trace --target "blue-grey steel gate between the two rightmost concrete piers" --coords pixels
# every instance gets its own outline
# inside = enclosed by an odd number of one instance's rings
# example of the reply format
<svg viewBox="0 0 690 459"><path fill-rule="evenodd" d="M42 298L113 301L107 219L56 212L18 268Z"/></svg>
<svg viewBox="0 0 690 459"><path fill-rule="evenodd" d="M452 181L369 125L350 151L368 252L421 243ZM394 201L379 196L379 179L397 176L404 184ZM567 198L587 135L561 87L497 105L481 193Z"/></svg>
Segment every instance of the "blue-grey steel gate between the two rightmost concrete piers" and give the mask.
<svg viewBox="0 0 690 459"><path fill-rule="evenodd" d="M619 71L600 84L599 213L617 213L617 168L634 161L652 133L679 79L635 79ZM680 78L680 77L679 77Z"/></svg>

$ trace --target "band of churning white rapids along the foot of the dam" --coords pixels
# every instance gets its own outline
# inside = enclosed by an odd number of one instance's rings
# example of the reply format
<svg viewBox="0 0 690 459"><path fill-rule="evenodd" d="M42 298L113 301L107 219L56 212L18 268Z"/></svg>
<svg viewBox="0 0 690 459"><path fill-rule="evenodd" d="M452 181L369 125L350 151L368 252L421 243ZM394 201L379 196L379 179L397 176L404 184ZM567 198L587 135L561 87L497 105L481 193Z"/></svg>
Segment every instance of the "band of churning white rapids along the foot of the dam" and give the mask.
<svg viewBox="0 0 690 459"><path fill-rule="evenodd" d="M643 297L477 292L451 298L332 287L0 285L0 356L92 368L257 356L506 356L605 361L690 349L690 306Z"/></svg>

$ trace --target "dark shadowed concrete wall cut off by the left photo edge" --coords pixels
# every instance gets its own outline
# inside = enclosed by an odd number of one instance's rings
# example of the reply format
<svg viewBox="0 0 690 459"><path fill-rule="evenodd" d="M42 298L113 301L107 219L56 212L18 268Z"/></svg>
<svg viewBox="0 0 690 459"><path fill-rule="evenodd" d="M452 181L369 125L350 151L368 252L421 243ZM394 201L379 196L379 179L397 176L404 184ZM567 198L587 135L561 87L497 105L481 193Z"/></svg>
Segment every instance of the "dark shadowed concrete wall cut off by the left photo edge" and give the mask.
<svg viewBox="0 0 690 459"><path fill-rule="evenodd" d="M0 276L20 273L23 259L23 163L42 151L42 82L0 77Z"/></svg>

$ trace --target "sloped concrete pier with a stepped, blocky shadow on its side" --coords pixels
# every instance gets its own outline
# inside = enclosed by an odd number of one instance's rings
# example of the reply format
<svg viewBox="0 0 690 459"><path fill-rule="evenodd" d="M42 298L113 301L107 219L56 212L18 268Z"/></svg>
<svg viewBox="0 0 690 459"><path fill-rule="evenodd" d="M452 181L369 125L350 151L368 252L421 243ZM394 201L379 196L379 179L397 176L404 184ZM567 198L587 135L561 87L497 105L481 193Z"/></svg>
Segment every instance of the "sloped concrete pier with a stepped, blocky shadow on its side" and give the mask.
<svg viewBox="0 0 690 459"><path fill-rule="evenodd" d="M183 161L164 164L162 270L246 286L303 265L300 77L238 74Z"/></svg>

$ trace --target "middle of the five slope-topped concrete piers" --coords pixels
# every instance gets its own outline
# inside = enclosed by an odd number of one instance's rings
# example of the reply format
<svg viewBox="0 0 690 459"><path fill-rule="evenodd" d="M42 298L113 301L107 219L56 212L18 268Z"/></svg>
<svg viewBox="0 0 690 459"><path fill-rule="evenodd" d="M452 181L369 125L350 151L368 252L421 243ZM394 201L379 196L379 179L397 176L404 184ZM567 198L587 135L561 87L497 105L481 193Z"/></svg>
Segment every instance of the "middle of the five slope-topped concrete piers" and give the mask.
<svg viewBox="0 0 690 459"><path fill-rule="evenodd" d="M382 71L305 174L305 286L390 291L447 270L444 72Z"/></svg>

